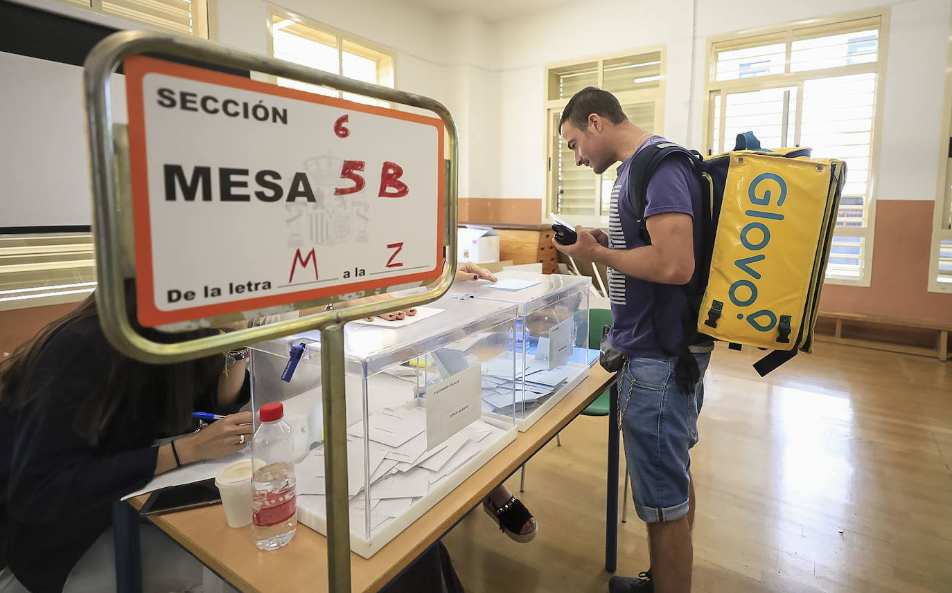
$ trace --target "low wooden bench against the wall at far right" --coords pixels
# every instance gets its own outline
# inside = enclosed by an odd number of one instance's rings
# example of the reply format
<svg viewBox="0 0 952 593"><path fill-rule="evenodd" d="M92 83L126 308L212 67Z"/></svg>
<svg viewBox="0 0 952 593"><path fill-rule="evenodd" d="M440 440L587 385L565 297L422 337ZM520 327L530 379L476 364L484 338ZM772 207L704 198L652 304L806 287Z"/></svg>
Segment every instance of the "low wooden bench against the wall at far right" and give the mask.
<svg viewBox="0 0 952 593"><path fill-rule="evenodd" d="M832 319L833 335L821 333L821 323L817 323L816 339L822 342L832 342L835 344L846 344L849 346L861 346L863 348L872 348L875 350L884 350L887 352L896 352L902 354L917 354L920 356L935 356L942 361L949 358L949 333L952 332L952 324L931 323L928 321L911 321L909 319L900 319L896 317L868 316L856 313L840 313L821 311L820 319ZM846 335L843 336L843 322L846 323ZM870 326L891 325L898 328L918 329L924 332L935 333L935 347L926 348L923 346L912 346L909 344L891 342L888 339L870 339L868 337L849 337L848 335L856 331L857 328L868 329ZM884 330L885 328L880 328Z"/></svg>

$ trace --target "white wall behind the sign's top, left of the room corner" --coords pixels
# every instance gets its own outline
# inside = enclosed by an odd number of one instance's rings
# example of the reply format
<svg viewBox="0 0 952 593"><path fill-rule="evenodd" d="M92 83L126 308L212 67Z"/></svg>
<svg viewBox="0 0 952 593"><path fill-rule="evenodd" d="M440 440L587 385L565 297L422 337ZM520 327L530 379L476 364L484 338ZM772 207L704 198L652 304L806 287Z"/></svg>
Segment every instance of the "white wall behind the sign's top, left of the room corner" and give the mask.
<svg viewBox="0 0 952 593"><path fill-rule="evenodd" d="M397 88L432 97L449 109L460 135L460 196L496 197L498 52L494 29L472 16L441 17L395 0L308 2L281 7L342 29L396 53ZM219 2L218 41L267 54L268 2Z"/></svg>

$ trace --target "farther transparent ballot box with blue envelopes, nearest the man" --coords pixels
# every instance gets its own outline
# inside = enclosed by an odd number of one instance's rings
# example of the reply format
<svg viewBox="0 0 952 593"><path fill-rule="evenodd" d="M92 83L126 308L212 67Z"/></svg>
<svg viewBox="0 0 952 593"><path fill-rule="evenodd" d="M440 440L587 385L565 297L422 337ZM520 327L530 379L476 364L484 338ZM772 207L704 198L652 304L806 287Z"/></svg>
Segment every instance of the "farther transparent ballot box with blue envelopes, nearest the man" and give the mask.
<svg viewBox="0 0 952 593"><path fill-rule="evenodd" d="M501 272L497 282L454 282L449 296L470 302L493 300L519 308L516 318L516 424L527 430L565 393L588 375L598 359L588 349L588 296L591 278L530 272ZM446 298L446 296L444 296ZM484 365L484 381L505 373ZM506 402L484 397L489 411L507 411Z"/></svg>

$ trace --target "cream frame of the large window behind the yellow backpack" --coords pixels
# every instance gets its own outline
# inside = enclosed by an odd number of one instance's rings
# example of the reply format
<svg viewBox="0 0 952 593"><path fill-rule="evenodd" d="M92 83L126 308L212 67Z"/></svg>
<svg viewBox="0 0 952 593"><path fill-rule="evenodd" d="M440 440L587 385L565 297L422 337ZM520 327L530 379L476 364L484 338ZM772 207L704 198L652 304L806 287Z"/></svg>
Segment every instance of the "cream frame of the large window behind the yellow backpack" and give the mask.
<svg viewBox="0 0 952 593"><path fill-rule="evenodd" d="M875 63L852 64L841 67L816 68L809 70L791 71L791 53L793 48L793 32L795 29L806 29L812 27L823 27L843 24L847 25L851 21L857 21L868 18L880 18L879 28L879 50ZM875 10L861 10L856 12L847 12L832 17L813 18L801 21L787 23L786 25L764 27L761 29L746 29L721 35L712 35L706 41L705 72L704 77L704 127L702 141L704 150L708 150L713 140L713 109L715 93L720 92L724 99L721 100L721 124L724 124L724 109L726 107L725 97L728 93L757 91L765 88L776 88L780 86L798 86L801 91L797 96L797 128L795 131L795 144L800 141L801 114L803 111L803 83L808 80L821 78L834 78L837 76L846 76L849 74L876 74L876 98L873 105L872 118L872 140L869 154L869 203L866 211L866 225L863 227L855 226L837 226L834 235L841 237L861 237L863 238L863 270L860 277L829 277L825 278L827 284L840 284L845 286L863 286L868 287L872 282L872 261L873 261L873 237L876 229L876 204L879 194L879 183L877 180L880 163L880 152L882 149L883 135L883 104L885 96L885 66L886 56L889 46L889 19L890 10L888 7ZM846 29L846 27L843 27ZM778 35L783 33L785 51L783 57L783 73L769 74L764 76L755 76L750 78L740 78L735 80L717 80L717 53L715 47L724 42L741 42L745 38ZM826 34L836 34L830 31ZM727 139L722 139L724 146L727 146Z"/></svg>

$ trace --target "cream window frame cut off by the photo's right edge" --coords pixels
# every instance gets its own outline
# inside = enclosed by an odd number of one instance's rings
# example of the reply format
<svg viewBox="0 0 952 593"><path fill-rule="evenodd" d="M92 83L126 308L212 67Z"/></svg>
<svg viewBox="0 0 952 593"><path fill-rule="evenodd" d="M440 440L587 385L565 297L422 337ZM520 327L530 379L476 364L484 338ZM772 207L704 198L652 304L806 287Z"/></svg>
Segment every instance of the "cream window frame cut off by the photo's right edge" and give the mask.
<svg viewBox="0 0 952 593"><path fill-rule="evenodd" d="M948 55L945 62L945 92L942 101L942 127L948 135L942 135L939 151L939 173L936 180L936 203L933 208L932 241L929 243L930 293L952 294L952 282L939 281L939 246L943 240L952 240L952 33L948 38ZM947 142L947 143L946 143Z"/></svg>

